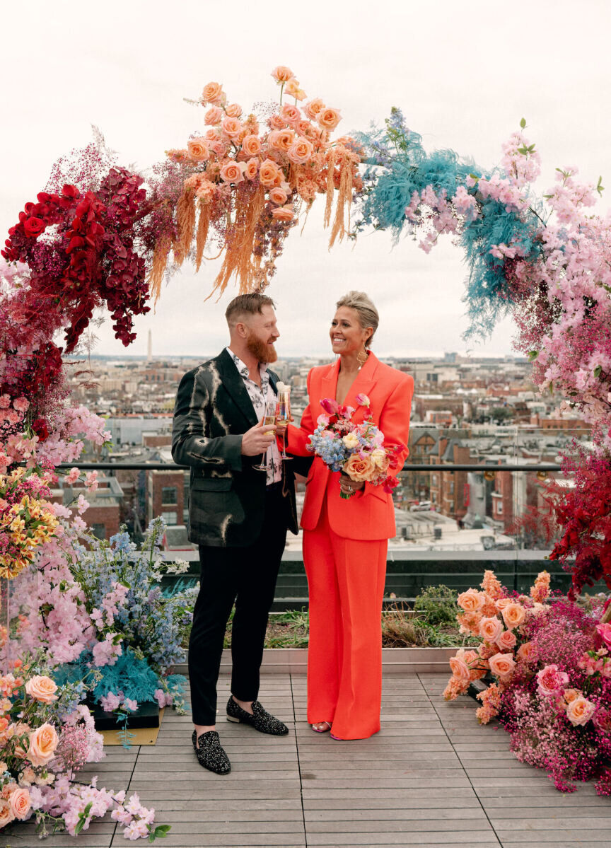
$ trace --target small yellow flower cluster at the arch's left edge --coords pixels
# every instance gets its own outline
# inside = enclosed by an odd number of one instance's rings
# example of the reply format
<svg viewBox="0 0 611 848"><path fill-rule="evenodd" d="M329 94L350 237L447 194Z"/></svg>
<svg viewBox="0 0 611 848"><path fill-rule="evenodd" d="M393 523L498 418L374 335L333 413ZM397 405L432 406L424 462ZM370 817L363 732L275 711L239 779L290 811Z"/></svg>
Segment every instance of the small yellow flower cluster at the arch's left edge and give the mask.
<svg viewBox="0 0 611 848"><path fill-rule="evenodd" d="M0 577L10 580L31 563L36 549L53 537L58 519L46 500L27 494L12 506L6 501L4 505L0 517Z"/></svg>

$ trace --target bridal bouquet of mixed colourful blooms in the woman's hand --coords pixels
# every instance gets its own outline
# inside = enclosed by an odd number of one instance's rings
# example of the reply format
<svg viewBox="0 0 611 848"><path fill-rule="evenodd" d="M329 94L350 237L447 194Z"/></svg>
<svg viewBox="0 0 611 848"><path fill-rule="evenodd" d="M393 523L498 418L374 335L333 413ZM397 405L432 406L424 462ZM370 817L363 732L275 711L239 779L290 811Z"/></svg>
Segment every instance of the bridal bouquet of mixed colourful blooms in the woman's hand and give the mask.
<svg viewBox="0 0 611 848"><path fill-rule="evenodd" d="M357 403L369 408L366 394L358 394ZM331 471L341 471L355 483L381 485L385 492L392 492L398 480L388 471L397 468L403 444L385 446L384 433L375 426L371 413L357 424L352 406L330 398L321 400L320 405L325 412L317 419L318 427L310 436L308 450L321 457ZM348 499L352 494L342 492L341 496Z"/></svg>

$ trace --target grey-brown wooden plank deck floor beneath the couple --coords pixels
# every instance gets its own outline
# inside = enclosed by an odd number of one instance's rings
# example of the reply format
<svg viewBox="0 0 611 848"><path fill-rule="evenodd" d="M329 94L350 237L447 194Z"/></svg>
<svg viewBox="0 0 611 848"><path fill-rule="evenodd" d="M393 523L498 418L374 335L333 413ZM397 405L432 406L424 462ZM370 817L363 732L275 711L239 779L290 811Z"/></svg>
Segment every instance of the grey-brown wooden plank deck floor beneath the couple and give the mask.
<svg viewBox="0 0 611 848"><path fill-rule="evenodd" d="M260 700L291 728L280 739L225 722L223 676L218 727L230 775L198 766L190 717L171 711L156 747L108 748L91 773L100 786L137 792L158 823L172 825L160 848L611 845L611 801L587 784L560 794L544 773L514 759L503 730L477 725L473 701L443 702L446 679L387 676L380 734L336 742L308 727L303 675L264 676ZM0 845L11 848L40 845L30 825L3 837ZM110 820L78 840L60 834L47 841L49 848L127 844Z"/></svg>

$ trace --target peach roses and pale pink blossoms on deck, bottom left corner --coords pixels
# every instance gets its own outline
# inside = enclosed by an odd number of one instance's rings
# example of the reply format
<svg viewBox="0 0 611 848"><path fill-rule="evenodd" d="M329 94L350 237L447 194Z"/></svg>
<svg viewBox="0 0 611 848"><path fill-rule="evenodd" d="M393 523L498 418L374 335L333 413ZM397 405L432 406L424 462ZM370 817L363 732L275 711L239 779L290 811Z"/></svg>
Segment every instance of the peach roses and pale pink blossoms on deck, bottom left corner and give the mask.
<svg viewBox="0 0 611 848"><path fill-rule="evenodd" d="M155 827L155 811L137 795L125 801L125 791L97 789L97 778L79 781L86 763L105 756L103 737L78 703L80 685L58 686L36 664L16 661L0 677L0 829L35 818L41 838L64 829L76 836L111 810L126 839L165 836L169 825Z"/></svg>

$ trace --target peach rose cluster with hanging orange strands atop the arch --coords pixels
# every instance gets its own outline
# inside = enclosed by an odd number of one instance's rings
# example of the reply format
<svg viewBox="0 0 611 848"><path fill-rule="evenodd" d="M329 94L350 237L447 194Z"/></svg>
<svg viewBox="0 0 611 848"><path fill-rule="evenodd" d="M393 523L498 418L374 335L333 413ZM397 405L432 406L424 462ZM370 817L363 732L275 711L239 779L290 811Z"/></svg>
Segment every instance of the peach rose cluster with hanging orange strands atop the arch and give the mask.
<svg viewBox="0 0 611 848"><path fill-rule="evenodd" d="M330 246L346 234L353 191L362 188L361 148L351 137L331 138L340 110L307 99L290 68L279 65L271 75L280 86L279 102L258 103L259 115L231 103L219 82L208 82L198 100L188 101L205 109L203 126L185 148L166 151L167 184L181 185L181 192L172 226L153 255L156 296L170 250L174 265L181 265L193 243L199 270L210 230L219 255L225 253L214 287L222 292L236 275L241 292L263 290L299 210L307 211L317 194L325 195Z"/></svg>

